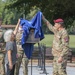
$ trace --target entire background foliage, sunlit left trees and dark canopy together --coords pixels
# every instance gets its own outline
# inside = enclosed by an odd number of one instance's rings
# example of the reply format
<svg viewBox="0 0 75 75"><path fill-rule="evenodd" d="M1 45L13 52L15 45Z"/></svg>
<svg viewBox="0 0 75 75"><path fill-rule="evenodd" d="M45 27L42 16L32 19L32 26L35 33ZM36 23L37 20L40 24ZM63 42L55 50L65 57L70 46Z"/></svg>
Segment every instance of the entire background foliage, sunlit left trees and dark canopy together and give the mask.
<svg viewBox="0 0 75 75"><path fill-rule="evenodd" d="M75 0L0 0L0 17L4 24L16 24L18 18L31 19L38 10L53 24L53 20L63 18L65 27L74 30ZM74 27L75 28L75 27ZM45 25L43 29L49 33Z"/></svg>

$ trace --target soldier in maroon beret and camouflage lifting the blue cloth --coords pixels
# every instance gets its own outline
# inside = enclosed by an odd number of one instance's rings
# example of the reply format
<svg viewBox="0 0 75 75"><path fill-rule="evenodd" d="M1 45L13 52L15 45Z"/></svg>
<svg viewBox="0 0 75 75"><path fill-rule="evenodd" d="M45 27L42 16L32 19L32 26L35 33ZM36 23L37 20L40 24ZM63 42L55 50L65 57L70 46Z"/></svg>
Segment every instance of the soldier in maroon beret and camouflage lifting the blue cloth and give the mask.
<svg viewBox="0 0 75 75"><path fill-rule="evenodd" d="M69 53L69 35L64 28L64 21L61 18L56 19L54 20L54 26L52 26L44 16L42 18L49 30L54 33L52 46L52 54L54 56L53 75L67 75L66 66Z"/></svg>

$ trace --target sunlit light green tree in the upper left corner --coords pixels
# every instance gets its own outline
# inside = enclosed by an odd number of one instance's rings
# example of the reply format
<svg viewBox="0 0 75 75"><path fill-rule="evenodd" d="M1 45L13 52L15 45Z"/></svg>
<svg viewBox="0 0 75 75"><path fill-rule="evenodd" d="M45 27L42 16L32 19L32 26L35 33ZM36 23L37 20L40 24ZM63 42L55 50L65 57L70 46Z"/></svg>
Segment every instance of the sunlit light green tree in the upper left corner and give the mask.
<svg viewBox="0 0 75 75"><path fill-rule="evenodd" d="M13 0L11 0L13 1ZM5 8L6 4L11 2L10 0L0 0L0 18L3 19L3 24L16 24L18 18L21 16L16 9Z"/></svg>

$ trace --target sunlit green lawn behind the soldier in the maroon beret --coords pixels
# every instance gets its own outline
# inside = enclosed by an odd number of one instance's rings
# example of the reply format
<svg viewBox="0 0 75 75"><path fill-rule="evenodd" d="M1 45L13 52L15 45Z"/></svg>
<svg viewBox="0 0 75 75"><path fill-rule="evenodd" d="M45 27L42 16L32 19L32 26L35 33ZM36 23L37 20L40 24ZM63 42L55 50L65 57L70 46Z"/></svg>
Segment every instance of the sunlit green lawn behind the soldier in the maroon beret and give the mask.
<svg viewBox="0 0 75 75"><path fill-rule="evenodd" d="M40 41L40 43L46 44L47 47L52 47L52 41L53 41L54 35L48 34L45 35L45 38ZM37 44L35 44L37 46ZM69 43L70 48L75 48L75 35L70 35L70 43Z"/></svg>

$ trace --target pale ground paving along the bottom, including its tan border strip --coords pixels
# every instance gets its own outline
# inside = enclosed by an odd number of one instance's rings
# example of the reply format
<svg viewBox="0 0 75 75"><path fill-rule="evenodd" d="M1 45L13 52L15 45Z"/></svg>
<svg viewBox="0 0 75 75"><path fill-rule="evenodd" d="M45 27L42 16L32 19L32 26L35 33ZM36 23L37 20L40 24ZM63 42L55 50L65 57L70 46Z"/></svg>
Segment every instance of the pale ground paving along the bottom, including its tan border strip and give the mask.
<svg viewBox="0 0 75 75"><path fill-rule="evenodd" d="M37 62L32 63L31 62L28 65L28 75L52 75L53 67L52 63L47 62L46 63L46 69L45 71L41 70L40 67L37 66ZM22 65L20 67L19 75L23 75L23 69ZM68 63L67 64L67 75L75 75L75 63Z"/></svg>

